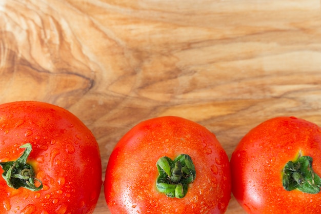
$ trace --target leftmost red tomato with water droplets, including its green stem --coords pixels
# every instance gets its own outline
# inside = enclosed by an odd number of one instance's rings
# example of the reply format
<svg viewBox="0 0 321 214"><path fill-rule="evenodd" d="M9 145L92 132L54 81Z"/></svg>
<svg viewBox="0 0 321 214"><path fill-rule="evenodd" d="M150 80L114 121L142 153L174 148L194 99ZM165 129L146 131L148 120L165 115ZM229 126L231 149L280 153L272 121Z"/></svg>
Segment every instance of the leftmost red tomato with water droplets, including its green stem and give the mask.
<svg viewBox="0 0 321 214"><path fill-rule="evenodd" d="M0 162L0 213L85 214L96 206L102 187L98 144L61 107L0 105Z"/></svg>

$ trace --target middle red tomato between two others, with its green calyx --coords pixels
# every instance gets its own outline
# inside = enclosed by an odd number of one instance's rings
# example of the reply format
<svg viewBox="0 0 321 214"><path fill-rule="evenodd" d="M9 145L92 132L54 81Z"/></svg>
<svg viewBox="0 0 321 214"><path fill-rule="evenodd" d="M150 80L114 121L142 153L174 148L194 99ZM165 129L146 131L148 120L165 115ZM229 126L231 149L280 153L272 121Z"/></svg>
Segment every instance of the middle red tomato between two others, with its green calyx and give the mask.
<svg viewBox="0 0 321 214"><path fill-rule="evenodd" d="M105 178L112 214L224 213L227 154L205 127L176 116L139 123L113 149Z"/></svg>

